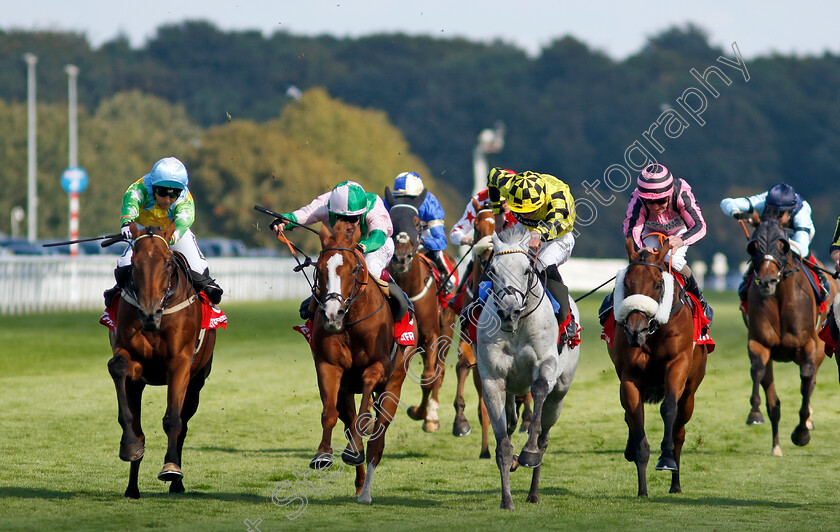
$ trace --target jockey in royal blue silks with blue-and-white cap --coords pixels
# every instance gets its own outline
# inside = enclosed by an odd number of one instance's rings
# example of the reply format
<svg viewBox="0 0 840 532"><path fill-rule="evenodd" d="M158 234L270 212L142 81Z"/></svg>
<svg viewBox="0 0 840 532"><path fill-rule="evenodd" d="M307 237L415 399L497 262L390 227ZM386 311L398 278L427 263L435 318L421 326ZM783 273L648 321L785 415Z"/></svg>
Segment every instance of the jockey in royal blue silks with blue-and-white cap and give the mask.
<svg viewBox="0 0 840 532"><path fill-rule="evenodd" d="M417 172L403 172L394 179L394 196L414 198L423 193L426 186L423 179ZM387 205L388 209L392 207ZM423 200L420 208L417 209L417 217L425 225L420 235L421 251L428 257L438 269L441 278L446 277L445 290L451 294L455 290L452 267L444 258L443 251L446 249L446 230L444 229L443 218L446 213L443 211L438 199L431 191L426 192L426 199Z"/></svg>

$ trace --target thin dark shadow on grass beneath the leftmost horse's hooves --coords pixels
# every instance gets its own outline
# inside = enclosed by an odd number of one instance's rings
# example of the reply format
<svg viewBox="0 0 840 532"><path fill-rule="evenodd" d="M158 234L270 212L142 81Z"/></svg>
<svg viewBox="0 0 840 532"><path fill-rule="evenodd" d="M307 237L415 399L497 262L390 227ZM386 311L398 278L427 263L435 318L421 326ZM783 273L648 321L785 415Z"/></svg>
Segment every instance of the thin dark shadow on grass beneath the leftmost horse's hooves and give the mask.
<svg viewBox="0 0 840 532"><path fill-rule="evenodd" d="M168 490L169 488L166 488ZM4 499L76 499L84 498L98 501L118 501L123 500L122 491L114 492L113 495L103 493L101 491L55 491L41 488L21 488L21 487L3 487L0 488L0 497ZM270 497L264 495L257 495L254 493L224 493L212 491L190 491L187 486L185 493L169 493L168 491L141 491L140 499L193 499L193 500L213 500L224 502L246 502L254 504L262 504L270 501Z"/></svg>

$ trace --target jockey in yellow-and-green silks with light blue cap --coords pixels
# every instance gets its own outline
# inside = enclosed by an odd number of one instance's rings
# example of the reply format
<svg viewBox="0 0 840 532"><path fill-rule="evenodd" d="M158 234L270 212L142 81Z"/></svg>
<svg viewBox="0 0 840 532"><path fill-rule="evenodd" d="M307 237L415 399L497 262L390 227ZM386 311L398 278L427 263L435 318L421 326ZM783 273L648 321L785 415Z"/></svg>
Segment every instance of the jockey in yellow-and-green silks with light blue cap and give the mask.
<svg viewBox="0 0 840 532"><path fill-rule="evenodd" d="M195 203L188 185L189 176L184 163L175 157L166 157L156 162L151 172L132 183L125 191L120 216L121 232L130 240L132 235L129 226L132 222L138 229L160 227L165 230L174 224L175 231L169 247L187 259L196 288L204 290L210 301L218 303L222 289L209 277L207 260L190 230L195 221ZM132 248L129 246L117 259L115 276L120 287L125 284L131 256Z"/></svg>

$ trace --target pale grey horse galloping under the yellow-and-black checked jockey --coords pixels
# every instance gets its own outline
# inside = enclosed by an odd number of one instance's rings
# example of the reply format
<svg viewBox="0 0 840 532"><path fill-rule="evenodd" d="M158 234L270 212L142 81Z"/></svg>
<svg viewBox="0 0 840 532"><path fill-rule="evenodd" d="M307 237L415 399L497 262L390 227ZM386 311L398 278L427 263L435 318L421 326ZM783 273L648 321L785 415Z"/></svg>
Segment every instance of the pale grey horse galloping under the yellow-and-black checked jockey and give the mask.
<svg viewBox="0 0 840 532"><path fill-rule="evenodd" d="M487 274L491 297L481 311L476 358L487 413L496 436L496 464L501 474L501 508L513 510L510 472L514 460L533 469L527 501L538 503L540 470L548 434L557 422L575 375L580 346L558 351L558 325L528 253L529 232L520 225L492 236L494 255ZM574 301L569 302L578 317ZM510 435L516 430L515 396L531 392L534 415L528 441L518 456Z"/></svg>

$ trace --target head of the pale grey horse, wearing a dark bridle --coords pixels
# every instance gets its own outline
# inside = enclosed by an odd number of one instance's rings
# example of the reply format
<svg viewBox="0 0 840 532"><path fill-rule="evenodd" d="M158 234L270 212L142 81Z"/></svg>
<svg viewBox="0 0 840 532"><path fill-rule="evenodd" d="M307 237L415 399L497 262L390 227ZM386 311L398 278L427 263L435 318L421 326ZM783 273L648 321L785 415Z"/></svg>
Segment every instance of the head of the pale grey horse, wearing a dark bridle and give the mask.
<svg viewBox="0 0 840 532"><path fill-rule="evenodd" d="M528 230L516 225L493 235L493 260L486 273L493 281L493 297L501 329L515 332L525 312L528 293L538 283L528 254Z"/></svg>

